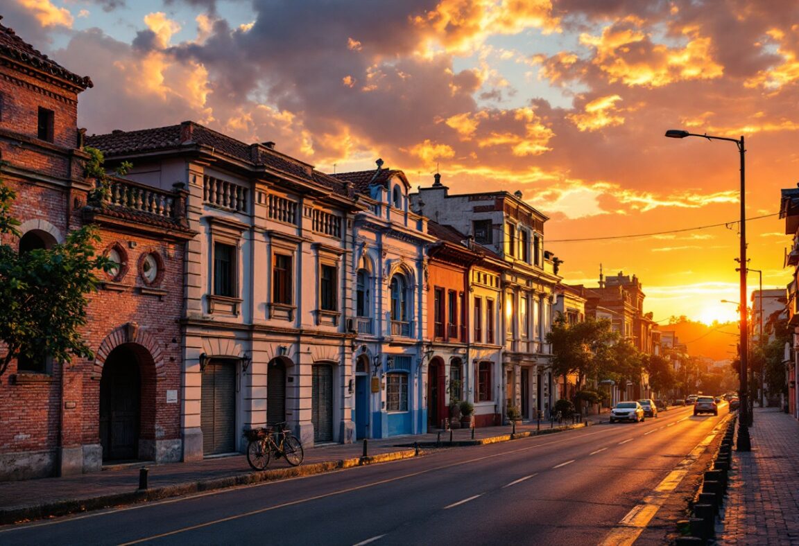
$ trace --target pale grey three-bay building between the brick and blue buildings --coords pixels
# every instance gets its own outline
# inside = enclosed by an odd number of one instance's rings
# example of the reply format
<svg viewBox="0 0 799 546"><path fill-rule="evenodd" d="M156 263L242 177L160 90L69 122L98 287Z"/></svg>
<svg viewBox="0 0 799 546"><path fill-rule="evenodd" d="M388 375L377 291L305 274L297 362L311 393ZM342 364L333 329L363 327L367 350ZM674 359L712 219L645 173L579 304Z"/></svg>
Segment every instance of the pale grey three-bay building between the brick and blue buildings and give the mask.
<svg viewBox="0 0 799 546"><path fill-rule="evenodd" d="M183 459L243 451L242 429L282 421L304 445L352 441L348 184L191 121L87 140L140 184L188 191Z"/></svg>

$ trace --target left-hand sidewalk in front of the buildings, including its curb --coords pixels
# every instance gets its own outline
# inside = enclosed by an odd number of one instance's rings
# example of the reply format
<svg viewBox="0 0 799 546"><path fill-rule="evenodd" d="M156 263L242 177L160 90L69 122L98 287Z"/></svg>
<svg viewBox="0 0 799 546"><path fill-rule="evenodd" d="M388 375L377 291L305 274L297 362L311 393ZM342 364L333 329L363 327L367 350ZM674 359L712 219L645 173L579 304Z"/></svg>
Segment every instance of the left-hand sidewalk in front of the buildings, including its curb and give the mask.
<svg viewBox="0 0 799 546"><path fill-rule="evenodd" d="M590 424L607 422L607 414L590 416ZM571 428L571 421L562 428ZM517 437L535 433L538 424L534 421L516 426ZM558 429L557 423L553 432ZM541 422L541 432L551 430L549 421ZM475 440L471 441L471 429L452 431L453 445L478 445L508 441L511 426L491 426L475 429ZM6 481L0 483L0 524L21 520L33 520L50 515L83 512L141 501L153 501L198 491L223 489L236 485L279 480L286 477L328 472L333 469L414 457L413 445L435 445L439 439L437 431L414 436L391 437L368 441L368 457L363 458L363 441L354 444L320 445L305 449L305 460L297 467L289 466L283 459L269 463L268 470L255 472L250 469L244 455L214 457L187 463L138 463L125 467L105 469L100 473L79 474L69 477L42 478L40 480ZM449 431L440 433L442 447L447 447ZM149 469L148 489L139 491L139 470Z"/></svg>

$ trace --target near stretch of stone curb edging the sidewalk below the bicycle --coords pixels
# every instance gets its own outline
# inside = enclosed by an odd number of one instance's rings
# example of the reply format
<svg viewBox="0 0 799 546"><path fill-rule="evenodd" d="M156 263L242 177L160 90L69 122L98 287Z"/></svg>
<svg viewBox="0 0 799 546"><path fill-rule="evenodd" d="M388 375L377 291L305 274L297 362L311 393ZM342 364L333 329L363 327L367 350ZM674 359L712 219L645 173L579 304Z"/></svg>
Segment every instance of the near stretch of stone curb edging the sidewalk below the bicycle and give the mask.
<svg viewBox="0 0 799 546"><path fill-rule="evenodd" d="M355 466L374 465L377 463L400 461L416 457L415 450L404 449L390 453L380 453L369 457L352 457L337 461L324 461L310 465L292 466L285 469L263 470L238 476L221 477L213 480L191 481L184 484L165 485L142 491L137 489L129 493L99 495L85 499L54 501L15 508L0 508L0 525L22 523L30 520L42 520L50 516L67 516L78 512L88 512L101 508L110 508L121 504L139 504L148 501L160 501L169 497L181 497L192 493L202 493L216 489L229 489L238 485L252 485L264 481L283 480L289 477L311 476L331 472L332 470L349 469Z"/></svg>

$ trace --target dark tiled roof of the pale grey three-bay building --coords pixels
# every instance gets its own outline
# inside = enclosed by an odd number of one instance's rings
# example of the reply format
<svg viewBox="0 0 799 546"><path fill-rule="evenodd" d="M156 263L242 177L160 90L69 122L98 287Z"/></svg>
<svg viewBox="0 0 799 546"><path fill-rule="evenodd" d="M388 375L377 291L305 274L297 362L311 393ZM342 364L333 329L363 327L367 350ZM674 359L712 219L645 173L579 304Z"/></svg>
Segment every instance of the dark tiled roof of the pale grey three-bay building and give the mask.
<svg viewBox="0 0 799 546"><path fill-rule="evenodd" d="M200 145L212 148L214 153L243 161L253 167L266 167L313 184L320 184L340 196L352 194L344 180L337 180L324 172L316 171L311 164L276 152L264 144L245 144L193 121L153 129L117 130L105 135L92 135L86 137L85 143L100 149L109 158L142 152L177 151Z"/></svg>

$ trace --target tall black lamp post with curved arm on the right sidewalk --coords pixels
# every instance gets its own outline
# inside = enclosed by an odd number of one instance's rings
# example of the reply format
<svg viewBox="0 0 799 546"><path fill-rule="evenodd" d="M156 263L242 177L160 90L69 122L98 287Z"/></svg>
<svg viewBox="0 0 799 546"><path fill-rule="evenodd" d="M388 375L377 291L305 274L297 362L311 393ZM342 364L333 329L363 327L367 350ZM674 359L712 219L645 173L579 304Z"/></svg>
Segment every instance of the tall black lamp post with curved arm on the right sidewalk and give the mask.
<svg viewBox="0 0 799 546"><path fill-rule="evenodd" d="M728 140L737 145L739 155L741 156L741 264L746 263L746 177L745 177L745 153L744 137L741 135L740 140L728 137L711 137L710 135L700 135L698 133L689 133L682 129L669 129L666 131L666 137L669 138L685 138L685 137L702 137L707 140ZM746 365L747 365L747 337L749 329L746 325L746 267L741 265L741 373L740 373L740 393L741 396L741 409L739 410L738 418L738 451L750 451L752 449L752 440L749 437L749 387L746 384Z"/></svg>

